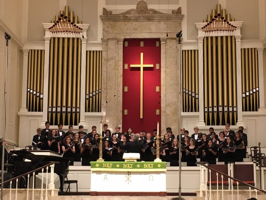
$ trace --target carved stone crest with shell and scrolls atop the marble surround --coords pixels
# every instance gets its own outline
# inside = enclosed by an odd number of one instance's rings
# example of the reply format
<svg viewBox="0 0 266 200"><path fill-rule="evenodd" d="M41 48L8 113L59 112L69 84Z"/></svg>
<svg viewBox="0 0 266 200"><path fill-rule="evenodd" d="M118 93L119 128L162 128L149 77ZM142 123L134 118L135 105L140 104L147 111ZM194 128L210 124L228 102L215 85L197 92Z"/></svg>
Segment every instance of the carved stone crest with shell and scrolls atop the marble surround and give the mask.
<svg viewBox="0 0 266 200"><path fill-rule="evenodd" d="M112 11L108 11L106 8L103 8L103 15L113 15ZM172 10L173 15L181 15L181 7L177 10ZM140 0L137 3L136 9L130 9L125 12L116 14L116 15L168 15L167 13L159 12L155 9L148 9L148 5L145 1Z"/></svg>

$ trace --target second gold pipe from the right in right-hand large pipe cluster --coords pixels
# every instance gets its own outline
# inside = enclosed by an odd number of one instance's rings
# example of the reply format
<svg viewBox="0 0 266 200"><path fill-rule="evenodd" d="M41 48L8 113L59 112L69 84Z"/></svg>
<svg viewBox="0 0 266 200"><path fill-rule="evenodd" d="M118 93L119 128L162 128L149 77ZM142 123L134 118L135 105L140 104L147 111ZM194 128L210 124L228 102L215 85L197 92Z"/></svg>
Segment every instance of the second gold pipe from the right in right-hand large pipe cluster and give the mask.
<svg viewBox="0 0 266 200"><path fill-rule="evenodd" d="M232 51L231 37L227 36L227 66L228 66L228 101L229 101L229 119L232 124L233 117L233 102L232 102Z"/></svg>

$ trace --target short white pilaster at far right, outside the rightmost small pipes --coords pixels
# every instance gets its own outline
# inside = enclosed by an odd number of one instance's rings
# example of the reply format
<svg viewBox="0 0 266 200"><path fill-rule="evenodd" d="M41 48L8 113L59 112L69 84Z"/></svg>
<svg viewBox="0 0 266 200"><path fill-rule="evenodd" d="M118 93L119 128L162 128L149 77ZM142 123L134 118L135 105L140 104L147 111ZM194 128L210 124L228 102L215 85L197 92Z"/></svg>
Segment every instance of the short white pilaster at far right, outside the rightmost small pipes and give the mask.
<svg viewBox="0 0 266 200"><path fill-rule="evenodd" d="M265 110L264 105L264 76L263 76L263 47L258 50L258 64L259 64L259 111Z"/></svg>

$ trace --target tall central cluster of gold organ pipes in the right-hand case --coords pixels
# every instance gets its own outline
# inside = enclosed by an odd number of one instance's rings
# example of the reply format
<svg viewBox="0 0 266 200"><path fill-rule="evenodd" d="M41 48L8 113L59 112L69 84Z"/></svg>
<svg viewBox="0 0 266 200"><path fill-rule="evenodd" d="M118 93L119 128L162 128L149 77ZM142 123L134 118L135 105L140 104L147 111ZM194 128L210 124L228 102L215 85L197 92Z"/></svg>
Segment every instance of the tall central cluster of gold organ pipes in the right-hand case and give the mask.
<svg viewBox="0 0 266 200"><path fill-rule="evenodd" d="M236 43L234 36L203 39L206 125L236 124Z"/></svg>

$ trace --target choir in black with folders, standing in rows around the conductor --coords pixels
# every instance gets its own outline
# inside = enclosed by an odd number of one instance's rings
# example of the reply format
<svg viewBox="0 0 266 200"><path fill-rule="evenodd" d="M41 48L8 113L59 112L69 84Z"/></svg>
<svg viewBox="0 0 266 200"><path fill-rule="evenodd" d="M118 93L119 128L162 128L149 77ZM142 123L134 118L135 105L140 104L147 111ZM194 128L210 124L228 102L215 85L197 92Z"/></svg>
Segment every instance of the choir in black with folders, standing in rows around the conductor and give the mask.
<svg viewBox="0 0 266 200"><path fill-rule="evenodd" d="M99 158L100 138L97 127L92 127L92 132L83 131L83 126L79 127L79 132L73 133L72 126L69 131L62 131L62 124L59 129L49 129L49 122L46 128L37 129L37 135L33 137L35 148L42 150L49 149L58 153L63 153L63 157L69 159L70 165L74 161L82 161L82 165L90 165L90 161ZM214 129L209 129L209 134L200 133L198 127L194 127L194 133L189 137L189 132L185 128L180 129L179 135L175 138L172 129L167 127L163 140L160 139L160 159L170 162L170 166L178 166L179 159L186 162L187 166L196 166L197 158L209 164L219 162L241 162L246 157L247 135L243 133L243 127L239 127L237 132L230 130L230 124L226 124L226 129L216 135ZM116 132L111 133L108 125L103 125L103 159L105 161L123 161L125 152L140 153L141 161L153 161L156 159L156 135L141 131L134 134L132 128L128 128L126 133L120 132L120 127L115 127ZM137 136L136 136L137 135ZM137 139L136 139L137 138ZM179 143L181 153L179 155Z"/></svg>

